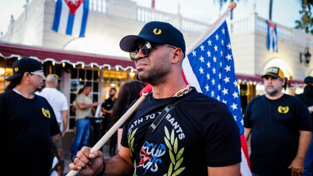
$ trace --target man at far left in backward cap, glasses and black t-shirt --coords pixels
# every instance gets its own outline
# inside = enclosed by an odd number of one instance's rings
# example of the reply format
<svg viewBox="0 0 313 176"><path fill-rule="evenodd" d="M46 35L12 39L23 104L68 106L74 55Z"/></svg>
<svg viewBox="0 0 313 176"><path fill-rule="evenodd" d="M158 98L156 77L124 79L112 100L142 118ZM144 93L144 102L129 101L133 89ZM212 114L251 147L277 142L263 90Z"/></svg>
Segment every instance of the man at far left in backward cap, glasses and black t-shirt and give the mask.
<svg viewBox="0 0 313 176"><path fill-rule="evenodd" d="M63 175L64 158L60 130L52 107L34 94L44 85L43 66L31 58L13 64L13 75L6 92L0 94L0 134L2 135L0 165L3 176L47 176L50 151L58 158L56 168Z"/></svg>

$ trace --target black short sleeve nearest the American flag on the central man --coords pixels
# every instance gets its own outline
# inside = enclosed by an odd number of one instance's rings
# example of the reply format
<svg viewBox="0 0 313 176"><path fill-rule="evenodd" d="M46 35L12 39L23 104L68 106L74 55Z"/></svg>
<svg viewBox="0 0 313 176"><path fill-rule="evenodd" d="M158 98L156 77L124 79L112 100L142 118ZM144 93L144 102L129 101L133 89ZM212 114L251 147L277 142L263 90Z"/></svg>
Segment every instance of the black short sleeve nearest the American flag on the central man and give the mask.
<svg viewBox="0 0 313 176"><path fill-rule="evenodd" d="M216 103L201 122L207 166L222 167L241 162L239 128L224 103Z"/></svg>

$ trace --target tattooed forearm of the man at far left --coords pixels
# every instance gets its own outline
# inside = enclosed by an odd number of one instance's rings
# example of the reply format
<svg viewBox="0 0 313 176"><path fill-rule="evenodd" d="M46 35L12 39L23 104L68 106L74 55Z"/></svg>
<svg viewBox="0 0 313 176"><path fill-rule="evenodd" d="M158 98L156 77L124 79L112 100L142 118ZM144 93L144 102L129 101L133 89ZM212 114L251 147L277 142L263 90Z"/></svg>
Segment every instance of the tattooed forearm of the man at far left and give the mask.
<svg viewBox="0 0 313 176"><path fill-rule="evenodd" d="M58 158L58 163L55 165L54 169L61 173L59 176L63 176L64 171L64 157L62 151L62 143L60 134L56 134L51 136L51 150L53 151L54 155Z"/></svg>

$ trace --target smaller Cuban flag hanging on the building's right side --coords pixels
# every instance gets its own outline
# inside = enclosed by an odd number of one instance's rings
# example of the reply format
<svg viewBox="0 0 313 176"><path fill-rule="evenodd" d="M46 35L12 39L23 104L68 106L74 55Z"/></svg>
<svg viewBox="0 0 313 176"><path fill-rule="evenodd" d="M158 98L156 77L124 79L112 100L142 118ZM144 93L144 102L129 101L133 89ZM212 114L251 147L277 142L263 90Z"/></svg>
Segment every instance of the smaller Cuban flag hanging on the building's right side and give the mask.
<svg viewBox="0 0 313 176"><path fill-rule="evenodd" d="M277 27L276 24L266 21L268 24L268 50L278 52L277 50Z"/></svg>

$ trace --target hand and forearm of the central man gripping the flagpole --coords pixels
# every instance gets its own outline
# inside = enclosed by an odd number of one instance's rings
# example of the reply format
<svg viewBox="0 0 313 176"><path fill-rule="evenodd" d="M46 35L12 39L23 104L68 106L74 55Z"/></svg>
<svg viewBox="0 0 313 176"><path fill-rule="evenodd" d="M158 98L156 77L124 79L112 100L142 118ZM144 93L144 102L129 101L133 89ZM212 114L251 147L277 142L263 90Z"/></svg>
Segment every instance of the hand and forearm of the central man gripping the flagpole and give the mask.
<svg viewBox="0 0 313 176"><path fill-rule="evenodd" d="M101 151L90 153L90 149L89 147L83 147L82 150L77 152L77 158L74 159L74 163L70 163L68 167L71 170L80 170L79 174L81 175L91 176L99 174L103 169L103 153ZM129 148L121 147L117 155L105 161L104 175L129 175L133 169L130 153Z"/></svg>

